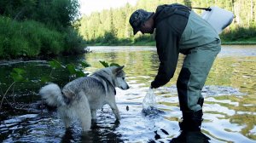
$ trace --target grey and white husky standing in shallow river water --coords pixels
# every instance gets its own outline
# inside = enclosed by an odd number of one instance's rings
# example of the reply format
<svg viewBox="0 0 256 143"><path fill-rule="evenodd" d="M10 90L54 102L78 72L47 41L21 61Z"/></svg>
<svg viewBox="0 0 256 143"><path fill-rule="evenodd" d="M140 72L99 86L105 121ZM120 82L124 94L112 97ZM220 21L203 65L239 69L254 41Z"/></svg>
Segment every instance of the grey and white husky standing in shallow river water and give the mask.
<svg viewBox="0 0 256 143"><path fill-rule="evenodd" d="M89 77L79 77L61 90L55 83L40 89L39 94L49 106L57 106L57 112L69 128L73 119L79 119L83 131L90 129L96 120L96 110L108 104L116 119L120 119L115 102L115 87L129 89L125 82L124 66L110 66L94 72Z"/></svg>

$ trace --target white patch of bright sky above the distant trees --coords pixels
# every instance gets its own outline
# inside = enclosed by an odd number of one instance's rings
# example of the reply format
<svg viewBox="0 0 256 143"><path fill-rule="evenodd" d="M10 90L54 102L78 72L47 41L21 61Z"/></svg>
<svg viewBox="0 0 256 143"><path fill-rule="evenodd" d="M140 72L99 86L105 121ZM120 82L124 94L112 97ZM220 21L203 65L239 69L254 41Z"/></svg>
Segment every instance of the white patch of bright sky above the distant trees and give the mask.
<svg viewBox="0 0 256 143"><path fill-rule="evenodd" d="M137 0L79 0L80 13L89 15L91 12L99 12L102 9L119 8L126 3L135 5Z"/></svg>

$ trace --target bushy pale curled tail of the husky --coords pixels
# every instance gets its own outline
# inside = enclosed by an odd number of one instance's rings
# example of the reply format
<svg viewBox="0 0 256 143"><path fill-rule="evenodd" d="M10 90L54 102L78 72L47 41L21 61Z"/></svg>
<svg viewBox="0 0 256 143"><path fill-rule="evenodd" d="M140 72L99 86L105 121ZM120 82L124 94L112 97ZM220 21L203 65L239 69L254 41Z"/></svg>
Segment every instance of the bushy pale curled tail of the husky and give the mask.
<svg viewBox="0 0 256 143"><path fill-rule="evenodd" d="M66 105L60 87L55 83L50 83L40 89L39 94L46 100L49 106L64 106Z"/></svg>

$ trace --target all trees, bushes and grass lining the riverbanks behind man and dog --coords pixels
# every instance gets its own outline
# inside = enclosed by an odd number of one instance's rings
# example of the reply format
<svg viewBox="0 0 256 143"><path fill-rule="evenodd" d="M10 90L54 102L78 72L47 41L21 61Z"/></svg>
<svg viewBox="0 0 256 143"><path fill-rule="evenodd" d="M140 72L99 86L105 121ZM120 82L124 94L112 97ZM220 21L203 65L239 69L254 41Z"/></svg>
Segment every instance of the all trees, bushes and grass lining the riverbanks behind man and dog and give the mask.
<svg viewBox="0 0 256 143"><path fill-rule="evenodd" d="M256 45L256 3L245 0L138 0L135 6L79 14L79 0L2 0L0 2L0 60L47 59L84 54L86 46L155 46L154 35L132 33L135 9L154 11L164 3L189 7L218 5L236 16L220 35L223 45ZM251 3L252 2L252 3ZM239 9L243 9L242 11ZM200 14L201 10L195 10Z"/></svg>

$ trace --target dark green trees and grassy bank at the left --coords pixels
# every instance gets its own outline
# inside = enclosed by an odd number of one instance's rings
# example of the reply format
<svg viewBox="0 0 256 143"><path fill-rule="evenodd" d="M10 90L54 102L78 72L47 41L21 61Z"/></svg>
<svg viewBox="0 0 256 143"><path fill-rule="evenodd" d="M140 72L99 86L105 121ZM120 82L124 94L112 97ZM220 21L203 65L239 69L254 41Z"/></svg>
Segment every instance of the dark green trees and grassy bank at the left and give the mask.
<svg viewBox="0 0 256 143"><path fill-rule="evenodd" d="M0 59L84 52L78 0L1 0Z"/></svg>

